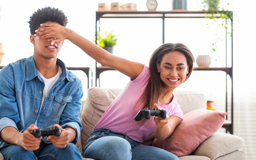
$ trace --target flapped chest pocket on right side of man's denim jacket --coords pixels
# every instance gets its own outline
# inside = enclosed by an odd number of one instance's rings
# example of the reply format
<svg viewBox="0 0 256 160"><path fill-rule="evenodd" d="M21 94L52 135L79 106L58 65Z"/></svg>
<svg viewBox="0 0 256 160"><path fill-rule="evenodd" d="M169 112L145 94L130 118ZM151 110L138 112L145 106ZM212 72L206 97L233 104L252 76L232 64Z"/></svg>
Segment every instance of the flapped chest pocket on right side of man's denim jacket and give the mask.
<svg viewBox="0 0 256 160"><path fill-rule="evenodd" d="M52 115L60 117L68 102L72 102L71 95L56 94L53 102Z"/></svg>

